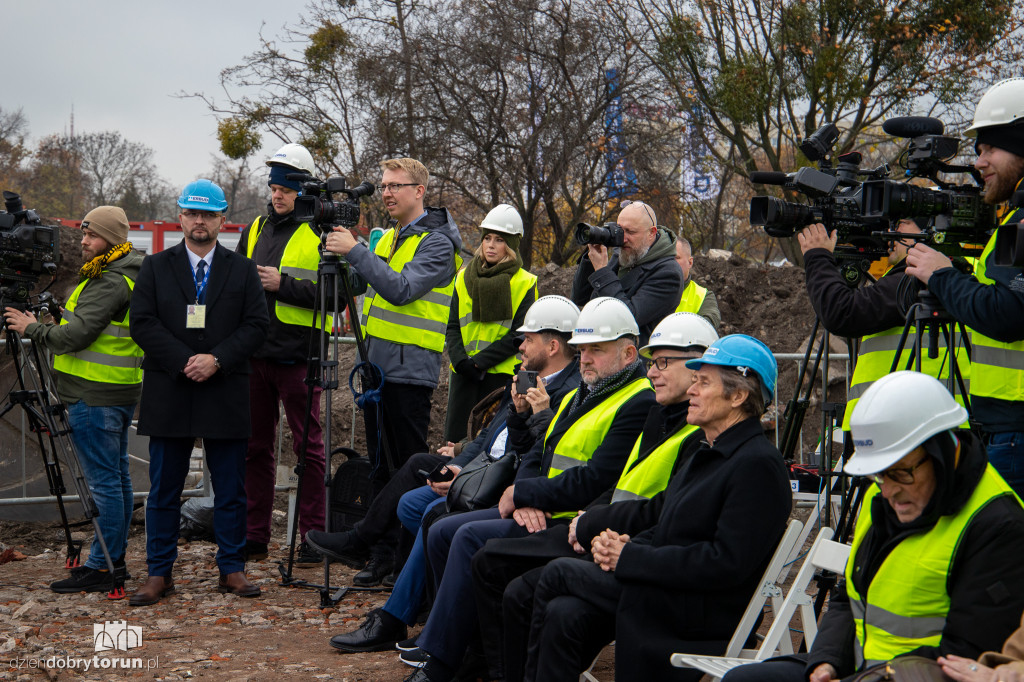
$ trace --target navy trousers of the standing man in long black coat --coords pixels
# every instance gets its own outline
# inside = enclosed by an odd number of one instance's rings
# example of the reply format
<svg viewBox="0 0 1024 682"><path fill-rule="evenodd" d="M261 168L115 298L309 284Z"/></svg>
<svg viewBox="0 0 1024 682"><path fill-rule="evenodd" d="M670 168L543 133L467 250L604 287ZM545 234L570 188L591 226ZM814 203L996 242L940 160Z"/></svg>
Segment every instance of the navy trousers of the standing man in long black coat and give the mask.
<svg viewBox="0 0 1024 682"><path fill-rule="evenodd" d="M150 577L170 577L178 557L181 489L195 438L150 438L150 499L145 505L145 554ZM246 566L246 439L204 438L213 489L217 566L233 573Z"/></svg>

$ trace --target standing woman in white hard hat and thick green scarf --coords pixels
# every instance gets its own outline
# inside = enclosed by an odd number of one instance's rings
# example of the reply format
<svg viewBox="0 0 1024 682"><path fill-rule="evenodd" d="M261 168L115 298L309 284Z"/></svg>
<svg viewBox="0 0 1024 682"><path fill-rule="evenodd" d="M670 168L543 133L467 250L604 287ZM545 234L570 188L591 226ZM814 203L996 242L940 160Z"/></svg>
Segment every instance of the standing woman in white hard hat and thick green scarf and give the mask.
<svg viewBox="0 0 1024 682"><path fill-rule="evenodd" d="M469 413L504 388L516 366L517 330L537 300L537 276L522 268L522 218L499 204L480 223L480 246L456 278L447 325L449 379L444 439L466 437Z"/></svg>

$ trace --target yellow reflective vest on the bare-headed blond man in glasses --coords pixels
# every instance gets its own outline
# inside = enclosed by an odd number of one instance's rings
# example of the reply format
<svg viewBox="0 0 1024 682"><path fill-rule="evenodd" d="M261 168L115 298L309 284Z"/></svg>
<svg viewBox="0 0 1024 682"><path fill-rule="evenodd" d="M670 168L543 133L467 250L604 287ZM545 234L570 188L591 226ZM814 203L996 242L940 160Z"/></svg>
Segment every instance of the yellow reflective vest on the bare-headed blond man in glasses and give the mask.
<svg viewBox="0 0 1024 682"><path fill-rule="evenodd" d="M396 229L391 227L381 237L374 253L387 261L391 269L400 272L416 256L420 242L428 233L418 232L407 237L394 254L391 254L391 243L397 239ZM462 257L458 253L455 254L455 266L456 269L462 267ZM453 276L446 286L431 289L406 305L389 303L383 296L378 296L372 287L367 289L362 297L360 318L367 335L439 353L444 349L444 331L447 329L455 280Z"/></svg>

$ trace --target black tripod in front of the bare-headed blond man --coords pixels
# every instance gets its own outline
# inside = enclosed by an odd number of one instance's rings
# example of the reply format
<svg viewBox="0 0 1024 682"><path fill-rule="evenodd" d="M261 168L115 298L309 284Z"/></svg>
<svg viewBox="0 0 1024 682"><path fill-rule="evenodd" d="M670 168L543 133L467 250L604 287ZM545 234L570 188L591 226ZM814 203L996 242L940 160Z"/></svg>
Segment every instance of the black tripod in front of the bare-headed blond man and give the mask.
<svg viewBox="0 0 1024 682"><path fill-rule="evenodd" d="M364 390L367 391L365 395L373 396L375 391L379 391L381 385L383 384L384 378L376 372L373 365L370 364L367 354L366 339L362 336L362 330L359 326L359 321L355 310L355 297L352 295L352 287L348 278L348 264L341 260L337 255L327 252L323 247L321 248L321 261L316 268L316 297L313 302L313 321L312 321L312 332L310 335L310 354L309 361L306 364L306 413L303 420L303 433L308 433L309 422L311 419L311 409L314 399L314 387L319 386L324 390L325 395L325 406L326 406L326 416L324 418L324 450L325 454L332 453L331 447L331 411L332 411L332 397L333 391L338 387L338 350L340 347L340 342L338 337L333 334L326 334L322 330L326 328L330 329L331 325L328 324L329 319L338 321L341 319L343 309L339 306L341 301L345 302L345 307L348 308L349 323L352 327L352 335L355 337L355 346L358 353L359 360L359 374L362 379ZM330 311L328 310L330 307ZM317 348L312 348L312 339L317 340ZM333 359L332 359L333 358ZM372 402L373 398L370 397L368 402ZM365 403L360 406L362 409L372 409L373 406ZM354 424L353 424L354 428ZM388 469L394 471L394 463L391 461L391 451L389 449L389 440L386 429L381 430L380 434L380 446L384 453L384 458L387 463ZM299 451L299 457L295 465L295 473L298 476L298 483L296 486L295 495L296 499L301 499L302 497L302 481L303 473L306 469L306 454L309 447L309 439L303 438L302 447ZM331 530L330 519L331 519L331 461L330 457L326 458L324 470L324 486L326 487L325 495L325 518L328 520L328 530ZM282 585L289 587L304 587L309 589L318 590L321 594L321 607L333 606L344 598L345 594L349 591L361 591L361 592L379 592L387 588L364 588L364 587L341 587L335 588L331 586L331 562L325 556L324 557L324 584L316 585L308 583L306 581L300 581L292 577L292 568L295 562L295 542L298 538L298 522L299 513L298 508L296 508L296 513L292 516L292 527L291 527L291 545L288 551L288 564L280 564L279 569L282 576ZM337 592L332 596L332 590Z"/></svg>

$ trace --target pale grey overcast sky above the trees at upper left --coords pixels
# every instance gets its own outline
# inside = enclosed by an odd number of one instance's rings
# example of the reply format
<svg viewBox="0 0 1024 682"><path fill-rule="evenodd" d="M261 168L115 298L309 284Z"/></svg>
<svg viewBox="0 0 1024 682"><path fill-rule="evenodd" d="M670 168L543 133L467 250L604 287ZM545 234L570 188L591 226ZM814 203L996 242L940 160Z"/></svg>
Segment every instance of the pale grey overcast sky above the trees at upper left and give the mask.
<svg viewBox="0 0 1024 682"><path fill-rule="evenodd" d="M301 2L270 0L0 0L0 106L20 108L29 134L117 130L155 152L178 188L212 166L216 121L181 91L223 99L220 71L294 24ZM265 23L265 26L263 26ZM272 152L279 142L265 138Z"/></svg>

